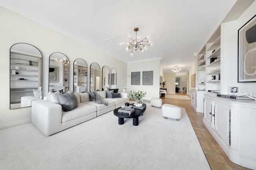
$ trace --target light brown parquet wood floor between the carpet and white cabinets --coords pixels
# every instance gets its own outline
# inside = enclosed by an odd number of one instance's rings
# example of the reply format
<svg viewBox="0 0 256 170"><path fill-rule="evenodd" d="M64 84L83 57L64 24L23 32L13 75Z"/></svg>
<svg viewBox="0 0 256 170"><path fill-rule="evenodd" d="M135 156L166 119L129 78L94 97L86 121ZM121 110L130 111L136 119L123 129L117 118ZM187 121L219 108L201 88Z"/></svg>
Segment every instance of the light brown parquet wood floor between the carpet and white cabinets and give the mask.
<svg viewBox="0 0 256 170"><path fill-rule="evenodd" d="M186 93L179 92L176 93L176 95L186 95ZM190 100L170 99L164 97L161 97L161 99L163 100L163 104L172 104L186 109L196 136L198 137L200 145L212 170L250 170L249 168L239 166L228 159L226 154L204 126L203 113L196 112L190 105Z"/></svg>

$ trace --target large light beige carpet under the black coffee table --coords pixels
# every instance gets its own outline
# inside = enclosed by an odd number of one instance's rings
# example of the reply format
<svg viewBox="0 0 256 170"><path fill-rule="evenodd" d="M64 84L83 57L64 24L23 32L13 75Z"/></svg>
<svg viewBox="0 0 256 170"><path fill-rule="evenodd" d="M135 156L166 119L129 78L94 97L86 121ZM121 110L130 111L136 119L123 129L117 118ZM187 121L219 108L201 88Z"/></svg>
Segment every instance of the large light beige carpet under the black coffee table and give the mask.
<svg viewBox="0 0 256 170"><path fill-rule="evenodd" d="M49 137L32 123L0 131L1 170L210 170L186 110L164 119L147 104L139 125L110 111Z"/></svg>

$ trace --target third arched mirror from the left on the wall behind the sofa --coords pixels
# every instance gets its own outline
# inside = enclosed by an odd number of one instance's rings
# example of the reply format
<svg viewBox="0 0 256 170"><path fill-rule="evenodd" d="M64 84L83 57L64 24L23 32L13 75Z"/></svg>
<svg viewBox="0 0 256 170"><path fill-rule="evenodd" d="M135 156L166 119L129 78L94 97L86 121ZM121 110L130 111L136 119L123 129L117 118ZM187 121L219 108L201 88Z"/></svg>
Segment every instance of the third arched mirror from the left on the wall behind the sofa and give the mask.
<svg viewBox="0 0 256 170"><path fill-rule="evenodd" d="M74 61L74 93L87 91L87 64L83 59Z"/></svg>

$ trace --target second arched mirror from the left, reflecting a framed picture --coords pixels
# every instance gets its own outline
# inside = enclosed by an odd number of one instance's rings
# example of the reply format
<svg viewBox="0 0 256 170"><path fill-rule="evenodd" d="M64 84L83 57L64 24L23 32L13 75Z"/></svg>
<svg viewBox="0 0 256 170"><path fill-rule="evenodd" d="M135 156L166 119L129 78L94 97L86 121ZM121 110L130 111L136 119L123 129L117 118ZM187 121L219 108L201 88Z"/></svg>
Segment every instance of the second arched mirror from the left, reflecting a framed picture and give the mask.
<svg viewBox="0 0 256 170"><path fill-rule="evenodd" d="M49 57L49 91L69 89L69 60L62 53L52 53Z"/></svg>

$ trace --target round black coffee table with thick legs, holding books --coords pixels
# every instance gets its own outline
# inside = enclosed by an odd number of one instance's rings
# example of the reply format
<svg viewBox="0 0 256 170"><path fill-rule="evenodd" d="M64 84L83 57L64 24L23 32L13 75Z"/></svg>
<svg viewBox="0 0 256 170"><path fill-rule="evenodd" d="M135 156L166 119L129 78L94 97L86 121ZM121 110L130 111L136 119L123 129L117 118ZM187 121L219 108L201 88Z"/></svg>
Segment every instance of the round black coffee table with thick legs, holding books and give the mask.
<svg viewBox="0 0 256 170"><path fill-rule="evenodd" d="M133 104L130 104L130 105L133 105ZM146 108L147 108L146 104L143 104L143 106L145 106L144 109L135 109L135 111L131 114L118 112L118 109L120 109L121 107L114 109L114 115L118 117L118 124L119 125L124 124L124 118L133 118L132 124L134 126L138 126L139 117L143 115L143 113L146 111Z"/></svg>

